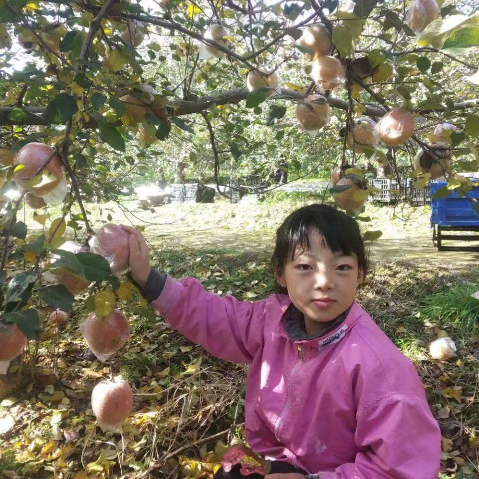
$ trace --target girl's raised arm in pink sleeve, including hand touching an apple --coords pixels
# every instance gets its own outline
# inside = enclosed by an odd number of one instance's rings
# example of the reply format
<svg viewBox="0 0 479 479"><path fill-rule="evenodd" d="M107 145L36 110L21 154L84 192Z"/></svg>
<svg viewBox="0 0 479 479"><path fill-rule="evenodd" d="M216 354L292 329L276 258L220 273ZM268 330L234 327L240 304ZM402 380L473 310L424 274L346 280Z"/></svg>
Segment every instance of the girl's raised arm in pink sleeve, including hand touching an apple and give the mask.
<svg viewBox="0 0 479 479"><path fill-rule="evenodd" d="M198 279L176 281L150 268L148 245L134 228L129 235L131 278L142 295L190 341L227 361L251 363L263 344L266 300L239 301L205 291Z"/></svg>

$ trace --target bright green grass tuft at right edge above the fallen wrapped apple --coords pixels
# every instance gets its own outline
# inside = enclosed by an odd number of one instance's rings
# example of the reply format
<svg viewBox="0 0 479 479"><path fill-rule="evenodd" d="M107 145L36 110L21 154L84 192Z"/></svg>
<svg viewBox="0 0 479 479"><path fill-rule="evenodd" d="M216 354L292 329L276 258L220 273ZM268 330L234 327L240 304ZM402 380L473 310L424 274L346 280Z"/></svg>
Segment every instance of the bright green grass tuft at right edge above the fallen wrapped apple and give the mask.
<svg viewBox="0 0 479 479"><path fill-rule="evenodd" d="M454 326L465 335L477 333L479 300L471 295L478 289L478 284L461 281L426 296L421 301L421 316L445 328Z"/></svg>

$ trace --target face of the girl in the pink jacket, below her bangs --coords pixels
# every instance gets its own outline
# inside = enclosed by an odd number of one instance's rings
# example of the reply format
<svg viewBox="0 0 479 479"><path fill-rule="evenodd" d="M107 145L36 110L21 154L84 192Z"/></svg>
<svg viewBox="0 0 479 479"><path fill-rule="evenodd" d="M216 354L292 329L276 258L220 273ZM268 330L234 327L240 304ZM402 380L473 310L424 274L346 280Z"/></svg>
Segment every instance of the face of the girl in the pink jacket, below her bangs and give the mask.
<svg viewBox="0 0 479 479"><path fill-rule="evenodd" d="M304 314L306 332L313 335L352 304L361 280L356 255L323 247L317 231L308 231L308 240L311 249L297 251L278 282L288 289L292 303Z"/></svg>

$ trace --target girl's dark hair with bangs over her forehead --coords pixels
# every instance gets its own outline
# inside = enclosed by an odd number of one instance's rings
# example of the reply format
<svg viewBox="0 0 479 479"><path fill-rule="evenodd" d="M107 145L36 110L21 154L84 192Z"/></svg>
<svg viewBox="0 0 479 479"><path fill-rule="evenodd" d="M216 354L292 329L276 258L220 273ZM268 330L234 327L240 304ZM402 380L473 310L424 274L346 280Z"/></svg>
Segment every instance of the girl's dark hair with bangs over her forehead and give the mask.
<svg viewBox="0 0 479 479"><path fill-rule="evenodd" d="M319 232L323 247L346 255L355 254L363 280L366 278L368 259L356 220L332 206L314 204L293 211L276 231L276 245L271 256L276 293L288 294L277 277L284 271L284 266L294 259L297 250L310 249L309 229Z"/></svg>

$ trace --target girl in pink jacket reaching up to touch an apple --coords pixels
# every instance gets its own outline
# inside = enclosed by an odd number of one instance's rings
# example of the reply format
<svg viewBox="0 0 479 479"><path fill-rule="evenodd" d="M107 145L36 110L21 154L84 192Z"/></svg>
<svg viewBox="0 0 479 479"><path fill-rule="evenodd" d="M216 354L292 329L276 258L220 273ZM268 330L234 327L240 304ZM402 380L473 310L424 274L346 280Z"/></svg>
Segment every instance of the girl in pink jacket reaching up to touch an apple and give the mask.
<svg viewBox="0 0 479 479"><path fill-rule="evenodd" d="M326 205L291 213L272 254L277 293L254 302L151 269L142 235L124 229L152 306L214 356L250 364L246 438L273 461L265 479L437 479L441 434L416 369L355 301L368 269L355 220Z"/></svg>

